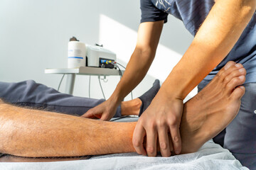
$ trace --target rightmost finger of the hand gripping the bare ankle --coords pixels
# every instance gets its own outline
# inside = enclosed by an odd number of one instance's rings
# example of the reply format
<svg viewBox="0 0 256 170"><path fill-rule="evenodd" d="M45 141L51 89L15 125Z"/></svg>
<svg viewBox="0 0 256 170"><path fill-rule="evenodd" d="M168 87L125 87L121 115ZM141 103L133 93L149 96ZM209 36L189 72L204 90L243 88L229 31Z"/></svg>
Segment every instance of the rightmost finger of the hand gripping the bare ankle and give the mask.
<svg viewBox="0 0 256 170"><path fill-rule="evenodd" d="M170 127L171 140L174 145L175 154L181 153L181 135L179 132L178 125L171 125Z"/></svg>

